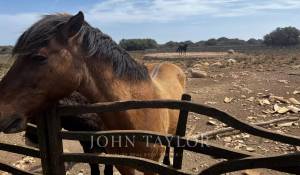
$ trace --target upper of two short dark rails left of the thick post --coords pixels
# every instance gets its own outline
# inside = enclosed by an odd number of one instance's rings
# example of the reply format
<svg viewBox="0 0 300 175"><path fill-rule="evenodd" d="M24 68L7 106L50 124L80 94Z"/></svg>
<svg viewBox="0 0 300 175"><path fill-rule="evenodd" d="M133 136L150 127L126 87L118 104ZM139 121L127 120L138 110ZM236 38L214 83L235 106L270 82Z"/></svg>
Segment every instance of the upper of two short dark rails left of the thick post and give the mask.
<svg viewBox="0 0 300 175"><path fill-rule="evenodd" d="M19 146L19 145L11 145L7 143L0 143L0 150L40 158L40 151L35 148L29 148L29 147Z"/></svg>

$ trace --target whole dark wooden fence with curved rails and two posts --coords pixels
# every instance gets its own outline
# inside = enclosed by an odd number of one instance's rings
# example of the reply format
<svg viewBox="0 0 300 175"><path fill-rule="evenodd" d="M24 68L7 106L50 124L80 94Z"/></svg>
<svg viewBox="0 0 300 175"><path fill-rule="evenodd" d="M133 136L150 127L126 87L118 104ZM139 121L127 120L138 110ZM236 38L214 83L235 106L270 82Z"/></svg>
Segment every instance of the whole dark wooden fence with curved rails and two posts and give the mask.
<svg viewBox="0 0 300 175"><path fill-rule="evenodd" d="M180 110L179 125L177 126L176 136L161 135L160 133L142 131L142 130L118 130L118 131L100 131L100 132L75 132L62 131L60 125L60 116L70 116L86 113L102 113L102 112L118 112L130 109L142 108L168 108ZM0 150L24 154L36 158L40 158L45 175L63 175L65 174L64 162L83 162L124 165L133 167L140 171L150 171L158 174L191 174L182 170L182 153L184 150L194 153L201 153L213 156L214 158L222 158L224 161L208 167L200 172L200 174L222 174L238 170L253 168L268 168L280 172L299 174L300 173L300 152L291 154L280 154L263 156L250 152L234 150L217 144L212 144L203 140L188 140L185 138L186 122L189 112L202 114L217 119L226 125L246 132L255 136L267 138L270 140L300 146L300 137L279 134L253 124L247 124L238 118L235 118L218 109L190 102L189 95L183 95L181 101L176 100L152 100L152 101L124 101L124 102L108 102L91 105L76 106L58 106L44 112L43 117L39 117L37 132L39 137L39 149L15 146L0 143ZM36 130L33 125L28 126L31 130ZM148 159L121 156L121 155L96 155L87 153L64 153L62 140L79 140L90 141L91 137L112 137L126 136L135 137L138 141L155 143L156 139L160 139L163 145L168 145L168 141L174 147L173 166L162 165ZM149 137L145 137L149 136ZM150 138L150 139L149 139ZM177 143L180 147L177 147ZM193 145L188 146L188 145ZM12 174L33 175L34 173L20 170L11 165L0 162L0 170L10 172Z"/></svg>

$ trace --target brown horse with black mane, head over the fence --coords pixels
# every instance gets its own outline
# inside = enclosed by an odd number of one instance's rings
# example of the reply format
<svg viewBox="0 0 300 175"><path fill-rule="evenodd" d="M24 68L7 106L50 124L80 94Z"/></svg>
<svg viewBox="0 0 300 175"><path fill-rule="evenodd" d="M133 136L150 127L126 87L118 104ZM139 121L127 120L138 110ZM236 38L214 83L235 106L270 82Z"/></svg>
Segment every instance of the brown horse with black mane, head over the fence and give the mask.
<svg viewBox="0 0 300 175"><path fill-rule="evenodd" d="M5 133L22 131L29 116L75 90L90 103L179 99L184 91L185 74L179 67L163 63L147 68L136 62L108 35L85 22L82 12L45 16L21 35L13 54L17 59L0 82L0 131ZM107 130L175 134L178 112L143 109L101 117ZM163 150L145 143L107 149L155 161ZM132 168L117 168L122 174L135 174Z"/></svg>

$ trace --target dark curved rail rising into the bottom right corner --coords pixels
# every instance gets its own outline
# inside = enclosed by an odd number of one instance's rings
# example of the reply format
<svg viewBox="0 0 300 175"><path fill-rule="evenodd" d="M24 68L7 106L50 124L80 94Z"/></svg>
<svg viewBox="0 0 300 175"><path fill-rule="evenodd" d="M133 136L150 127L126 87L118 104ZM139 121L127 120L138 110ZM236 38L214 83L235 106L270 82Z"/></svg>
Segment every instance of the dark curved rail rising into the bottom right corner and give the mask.
<svg viewBox="0 0 300 175"><path fill-rule="evenodd" d="M300 152L279 156L249 157L240 160L229 160L210 166L200 174L222 174L253 168L269 168L287 173L300 172Z"/></svg>

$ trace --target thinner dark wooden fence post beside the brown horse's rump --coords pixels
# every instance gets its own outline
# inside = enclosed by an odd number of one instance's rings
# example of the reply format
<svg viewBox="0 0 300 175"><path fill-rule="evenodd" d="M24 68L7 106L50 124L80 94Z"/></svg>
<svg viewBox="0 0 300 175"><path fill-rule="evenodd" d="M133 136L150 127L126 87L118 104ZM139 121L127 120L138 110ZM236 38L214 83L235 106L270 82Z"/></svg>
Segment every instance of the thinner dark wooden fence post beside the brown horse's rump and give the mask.
<svg viewBox="0 0 300 175"><path fill-rule="evenodd" d="M189 94L183 94L181 100L191 101L191 96ZM186 123L189 115L189 111L186 109L180 110L178 124L176 129L176 136L184 137L186 132ZM174 148L174 160L173 167L177 169L182 168L182 158L183 158L183 149L180 147Z"/></svg>

